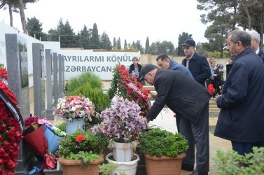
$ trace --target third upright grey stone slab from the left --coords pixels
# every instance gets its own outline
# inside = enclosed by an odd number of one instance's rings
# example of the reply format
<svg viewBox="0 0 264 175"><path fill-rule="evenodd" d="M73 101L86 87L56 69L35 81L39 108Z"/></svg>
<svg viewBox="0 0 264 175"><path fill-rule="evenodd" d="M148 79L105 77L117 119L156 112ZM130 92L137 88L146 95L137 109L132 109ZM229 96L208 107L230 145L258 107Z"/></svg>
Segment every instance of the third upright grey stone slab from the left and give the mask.
<svg viewBox="0 0 264 175"><path fill-rule="evenodd" d="M54 120L53 115L53 50L45 49L46 59L46 97L47 97L47 109L46 118L48 120Z"/></svg>

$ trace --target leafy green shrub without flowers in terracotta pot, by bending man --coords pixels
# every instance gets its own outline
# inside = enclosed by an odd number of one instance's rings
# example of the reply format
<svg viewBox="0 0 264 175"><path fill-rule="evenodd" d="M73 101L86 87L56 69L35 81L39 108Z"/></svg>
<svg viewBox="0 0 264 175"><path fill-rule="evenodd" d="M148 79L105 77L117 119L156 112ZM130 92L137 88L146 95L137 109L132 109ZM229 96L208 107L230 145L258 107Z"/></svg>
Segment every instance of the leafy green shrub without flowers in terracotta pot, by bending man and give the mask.
<svg viewBox="0 0 264 175"><path fill-rule="evenodd" d="M181 134L154 128L140 134L139 148L145 155L146 174L180 174L188 141Z"/></svg>

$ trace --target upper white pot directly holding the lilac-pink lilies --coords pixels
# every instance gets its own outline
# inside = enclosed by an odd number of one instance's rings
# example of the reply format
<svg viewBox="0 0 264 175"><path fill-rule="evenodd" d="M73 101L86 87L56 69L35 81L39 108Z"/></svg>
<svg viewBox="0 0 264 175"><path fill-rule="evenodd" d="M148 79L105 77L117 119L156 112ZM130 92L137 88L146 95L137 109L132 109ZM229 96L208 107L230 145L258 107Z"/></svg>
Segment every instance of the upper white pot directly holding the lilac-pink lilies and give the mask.
<svg viewBox="0 0 264 175"><path fill-rule="evenodd" d="M113 142L113 158L117 162L130 162L133 158L133 146L127 143Z"/></svg>

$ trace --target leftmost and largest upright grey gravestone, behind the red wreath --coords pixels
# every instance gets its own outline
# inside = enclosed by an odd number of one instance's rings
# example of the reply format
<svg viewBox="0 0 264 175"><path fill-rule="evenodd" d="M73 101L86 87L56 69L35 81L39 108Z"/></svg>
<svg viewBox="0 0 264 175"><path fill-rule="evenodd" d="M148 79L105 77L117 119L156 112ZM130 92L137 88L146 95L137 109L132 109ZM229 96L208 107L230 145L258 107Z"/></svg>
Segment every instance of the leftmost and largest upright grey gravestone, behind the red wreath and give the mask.
<svg viewBox="0 0 264 175"><path fill-rule="evenodd" d="M6 34L6 68L8 87L15 93L23 120L30 115L29 111L29 75L27 60L27 40L17 34ZM32 156L25 141L20 141L20 155L15 174L25 174L32 165Z"/></svg>

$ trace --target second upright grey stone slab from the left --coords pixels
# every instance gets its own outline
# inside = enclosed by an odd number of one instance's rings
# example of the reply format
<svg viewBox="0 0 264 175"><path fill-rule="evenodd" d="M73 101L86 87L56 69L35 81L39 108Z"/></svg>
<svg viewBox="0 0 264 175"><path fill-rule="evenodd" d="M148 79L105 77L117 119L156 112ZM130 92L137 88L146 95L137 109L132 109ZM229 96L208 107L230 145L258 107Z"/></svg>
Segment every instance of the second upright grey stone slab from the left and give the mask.
<svg viewBox="0 0 264 175"><path fill-rule="evenodd" d="M34 116L46 118L45 94L45 60L44 46L32 43L33 83L34 83Z"/></svg>

